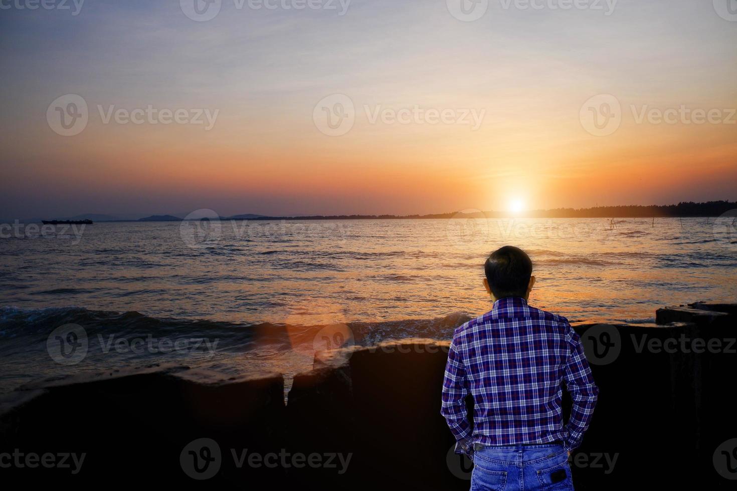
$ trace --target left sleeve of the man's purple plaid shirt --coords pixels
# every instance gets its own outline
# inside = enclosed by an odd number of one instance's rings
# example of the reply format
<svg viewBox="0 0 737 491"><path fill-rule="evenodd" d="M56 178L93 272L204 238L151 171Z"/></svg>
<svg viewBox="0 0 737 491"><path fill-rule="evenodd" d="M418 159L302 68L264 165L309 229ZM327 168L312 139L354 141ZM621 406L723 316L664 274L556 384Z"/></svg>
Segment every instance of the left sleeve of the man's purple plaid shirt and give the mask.
<svg viewBox="0 0 737 491"><path fill-rule="evenodd" d="M469 453L471 445L471 425L469 425L466 411L466 396L468 395L468 379L463 359L455 346L455 340L450 343L448 361L445 365L443 381L443 398L441 414L448 423L455 440L455 453Z"/></svg>

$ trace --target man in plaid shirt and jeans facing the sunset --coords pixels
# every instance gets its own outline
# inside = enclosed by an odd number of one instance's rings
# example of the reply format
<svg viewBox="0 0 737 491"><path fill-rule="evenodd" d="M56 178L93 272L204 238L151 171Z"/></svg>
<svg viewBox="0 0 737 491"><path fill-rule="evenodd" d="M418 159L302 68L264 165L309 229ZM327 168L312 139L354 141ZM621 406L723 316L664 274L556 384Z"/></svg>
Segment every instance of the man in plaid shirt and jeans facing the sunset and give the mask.
<svg viewBox="0 0 737 491"><path fill-rule="evenodd" d="M474 462L471 490L573 490L568 456L598 395L581 339L565 317L528 305L535 277L523 250L492 252L484 272L494 307L455 330L445 369L441 414L455 453ZM573 399L566 425L563 384Z"/></svg>

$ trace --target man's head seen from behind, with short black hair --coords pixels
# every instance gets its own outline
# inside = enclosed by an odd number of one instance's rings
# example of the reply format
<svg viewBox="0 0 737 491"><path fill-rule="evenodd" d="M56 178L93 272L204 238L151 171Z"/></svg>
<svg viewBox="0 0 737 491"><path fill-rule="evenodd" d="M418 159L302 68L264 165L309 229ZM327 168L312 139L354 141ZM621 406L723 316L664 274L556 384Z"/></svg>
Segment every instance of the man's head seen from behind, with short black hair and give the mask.
<svg viewBox="0 0 737 491"><path fill-rule="evenodd" d="M532 261L519 247L504 246L489 255L483 272L497 300L525 297L532 276Z"/></svg>

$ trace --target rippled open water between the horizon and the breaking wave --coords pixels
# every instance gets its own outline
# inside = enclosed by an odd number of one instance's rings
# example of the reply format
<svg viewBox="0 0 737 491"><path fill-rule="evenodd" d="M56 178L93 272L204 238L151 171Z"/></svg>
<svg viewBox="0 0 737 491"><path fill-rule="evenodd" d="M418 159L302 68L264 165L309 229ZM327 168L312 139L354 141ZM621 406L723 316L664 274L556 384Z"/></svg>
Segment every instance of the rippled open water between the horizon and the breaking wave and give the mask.
<svg viewBox="0 0 737 491"><path fill-rule="evenodd" d="M489 308L485 255L514 244L533 258L536 305L640 319L666 303L735 297L737 237L716 222L97 223L81 238L0 240L0 294L18 308L298 325L477 314Z"/></svg>

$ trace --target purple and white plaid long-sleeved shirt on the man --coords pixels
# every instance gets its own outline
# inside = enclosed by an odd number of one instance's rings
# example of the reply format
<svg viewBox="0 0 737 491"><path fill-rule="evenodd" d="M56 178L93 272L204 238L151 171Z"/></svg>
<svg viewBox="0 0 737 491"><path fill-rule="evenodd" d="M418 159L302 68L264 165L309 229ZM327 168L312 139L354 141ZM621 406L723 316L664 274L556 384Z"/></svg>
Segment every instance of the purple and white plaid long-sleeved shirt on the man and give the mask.
<svg viewBox="0 0 737 491"><path fill-rule="evenodd" d="M564 382L573 399L565 426ZM475 402L473 431L466 415L469 392ZM453 333L441 414L458 440L456 453L471 456L473 443L555 441L570 451L588 428L597 395L581 340L568 320L507 297Z"/></svg>

